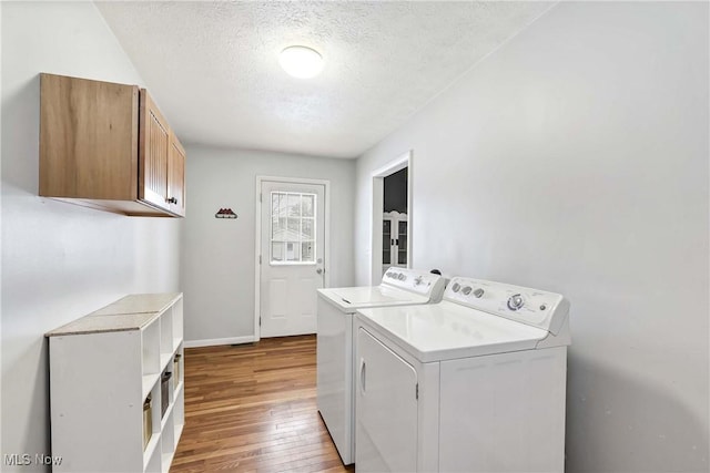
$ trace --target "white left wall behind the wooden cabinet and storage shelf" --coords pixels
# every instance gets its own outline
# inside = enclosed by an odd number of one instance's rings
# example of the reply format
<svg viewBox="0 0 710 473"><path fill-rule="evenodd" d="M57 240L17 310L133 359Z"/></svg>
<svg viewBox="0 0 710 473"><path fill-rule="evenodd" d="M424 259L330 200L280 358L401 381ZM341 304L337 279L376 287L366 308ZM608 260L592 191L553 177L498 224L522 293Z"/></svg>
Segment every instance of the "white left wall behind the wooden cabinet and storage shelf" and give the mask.
<svg viewBox="0 0 710 473"><path fill-rule="evenodd" d="M40 72L142 83L93 3L3 2L1 453L32 456L49 453L43 333L126 294L178 290L180 279L178 219L38 197Z"/></svg>

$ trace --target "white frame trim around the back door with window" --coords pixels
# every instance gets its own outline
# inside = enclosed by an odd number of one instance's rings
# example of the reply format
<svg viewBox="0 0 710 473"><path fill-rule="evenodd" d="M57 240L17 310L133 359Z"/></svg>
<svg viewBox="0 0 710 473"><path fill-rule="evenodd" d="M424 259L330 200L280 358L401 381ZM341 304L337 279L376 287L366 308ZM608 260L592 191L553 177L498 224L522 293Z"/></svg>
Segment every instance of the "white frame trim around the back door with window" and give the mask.
<svg viewBox="0 0 710 473"><path fill-rule="evenodd" d="M310 179L305 177L284 177L284 176L256 176L256 186L254 191L254 341L261 340L262 329L258 325L258 317L261 316L261 290L262 290L262 268L258 263L258 257L262 255L262 202L260 200L260 194L262 192L262 183L276 182L286 184L320 184L323 185L323 200L324 202L324 225L325 225L325 240L323 241L323 270L324 280L323 287L331 286L331 181L328 179ZM263 260L263 258L262 258Z"/></svg>

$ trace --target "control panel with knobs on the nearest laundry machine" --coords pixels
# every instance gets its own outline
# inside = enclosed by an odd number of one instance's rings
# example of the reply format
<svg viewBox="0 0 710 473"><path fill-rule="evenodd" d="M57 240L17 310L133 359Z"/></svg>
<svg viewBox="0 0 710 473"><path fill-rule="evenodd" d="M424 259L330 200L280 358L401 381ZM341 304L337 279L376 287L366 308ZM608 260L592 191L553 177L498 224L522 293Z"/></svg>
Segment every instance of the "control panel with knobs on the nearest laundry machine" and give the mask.
<svg viewBox="0 0 710 473"><path fill-rule="evenodd" d="M452 278L444 299L555 335L569 312L569 301L559 294L458 276Z"/></svg>

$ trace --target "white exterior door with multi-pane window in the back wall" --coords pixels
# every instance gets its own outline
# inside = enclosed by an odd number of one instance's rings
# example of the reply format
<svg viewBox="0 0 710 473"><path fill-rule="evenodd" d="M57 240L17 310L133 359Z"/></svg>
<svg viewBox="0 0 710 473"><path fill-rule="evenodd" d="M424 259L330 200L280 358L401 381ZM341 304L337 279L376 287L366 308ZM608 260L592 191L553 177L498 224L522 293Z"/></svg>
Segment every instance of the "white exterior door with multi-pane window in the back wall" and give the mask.
<svg viewBox="0 0 710 473"><path fill-rule="evenodd" d="M261 182L261 337L315 333L325 185Z"/></svg>

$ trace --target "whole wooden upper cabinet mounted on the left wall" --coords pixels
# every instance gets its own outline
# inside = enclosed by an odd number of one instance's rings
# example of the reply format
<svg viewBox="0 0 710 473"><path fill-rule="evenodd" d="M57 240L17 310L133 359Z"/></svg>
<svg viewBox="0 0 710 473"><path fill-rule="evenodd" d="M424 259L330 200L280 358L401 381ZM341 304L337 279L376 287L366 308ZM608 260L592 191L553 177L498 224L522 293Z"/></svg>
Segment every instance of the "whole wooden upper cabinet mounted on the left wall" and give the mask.
<svg viewBox="0 0 710 473"><path fill-rule="evenodd" d="M41 196L184 216L185 152L144 89L53 74L40 84Z"/></svg>

